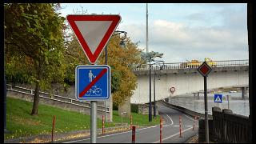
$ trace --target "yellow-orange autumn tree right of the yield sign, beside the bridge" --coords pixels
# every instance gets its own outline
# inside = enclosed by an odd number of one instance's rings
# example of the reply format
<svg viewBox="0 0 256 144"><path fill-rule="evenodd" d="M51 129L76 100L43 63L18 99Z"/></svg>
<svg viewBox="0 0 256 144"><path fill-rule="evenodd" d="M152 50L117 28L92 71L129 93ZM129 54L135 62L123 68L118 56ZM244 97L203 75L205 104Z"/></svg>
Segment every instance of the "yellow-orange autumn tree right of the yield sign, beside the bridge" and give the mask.
<svg viewBox="0 0 256 144"><path fill-rule="evenodd" d="M111 91L113 102L122 105L127 98L130 98L137 87L137 77L133 70L142 63L140 58L141 50L126 38L126 47L120 45L118 35L112 36L107 45L108 65L111 66ZM105 53L99 58L100 63L105 62Z"/></svg>

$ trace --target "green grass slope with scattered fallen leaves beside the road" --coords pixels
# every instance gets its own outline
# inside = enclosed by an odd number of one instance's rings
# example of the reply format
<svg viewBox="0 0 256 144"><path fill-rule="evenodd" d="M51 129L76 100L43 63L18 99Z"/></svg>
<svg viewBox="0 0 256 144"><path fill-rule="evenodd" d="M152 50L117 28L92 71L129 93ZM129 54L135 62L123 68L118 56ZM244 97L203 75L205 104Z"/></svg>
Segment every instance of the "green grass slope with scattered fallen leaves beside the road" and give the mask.
<svg viewBox="0 0 256 144"><path fill-rule="evenodd" d="M18 138L36 134L51 134L54 115L54 133L68 132L72 130L90 130L90 115L80 114L74 111L62 110L53 106L39 105L38 115L31 116L32 102L20 99L7 98L6 104L6 128L11 133L4 134L5 139ZM133 124L146 126L159 124L159 117L148 122L148 115L132 113ZM118 110L113 111L113 122L107 122L105 127L115 126L121 123L122 118ZM123 123L130 124L130 118L123 118ZM102 120L98 119L98 128L102 127Z"/></svg>

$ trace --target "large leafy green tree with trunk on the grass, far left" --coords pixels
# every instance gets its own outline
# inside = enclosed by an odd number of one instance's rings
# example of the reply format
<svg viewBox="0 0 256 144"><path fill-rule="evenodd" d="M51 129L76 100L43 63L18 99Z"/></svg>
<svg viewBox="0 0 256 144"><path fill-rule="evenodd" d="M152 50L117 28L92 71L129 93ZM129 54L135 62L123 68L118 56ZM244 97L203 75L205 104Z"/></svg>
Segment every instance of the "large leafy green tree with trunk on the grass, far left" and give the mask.
<svg viewBox="0 0 256 144"><path fill-rule="evenodd" d="M48 3L4 5L6 74L13 75L17 65L23 72L30 70L22 74L28 77L28 82L36 84L31 115L38 114L40 87L50 88L51 82L62 82L64 78L62 26L65 18L56 10L57 4Z"/></svg>

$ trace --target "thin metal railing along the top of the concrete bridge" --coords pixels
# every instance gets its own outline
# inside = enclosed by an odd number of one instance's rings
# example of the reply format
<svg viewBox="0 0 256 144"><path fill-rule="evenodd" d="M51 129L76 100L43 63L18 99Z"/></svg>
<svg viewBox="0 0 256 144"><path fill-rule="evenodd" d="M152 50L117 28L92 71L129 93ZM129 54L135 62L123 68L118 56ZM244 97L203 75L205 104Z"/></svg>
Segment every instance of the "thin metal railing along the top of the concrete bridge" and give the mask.
<svg viewBox="0 0 256 144"><path fill-rule="evenodd" d="M228 67L228 66L249 66L249 59L245 60L229 60L229 61L214 61L213 67ZM196 66L187 66L186 63L191 62L174 62L174 63L165 63L162 67L162 70L171 70L171 69L188 69L188 68L198 68L202 62L198 62ZM158 64L151 64L151 70L160 70ZM149 64L142 64L135 70L150 70Z"/></svg>

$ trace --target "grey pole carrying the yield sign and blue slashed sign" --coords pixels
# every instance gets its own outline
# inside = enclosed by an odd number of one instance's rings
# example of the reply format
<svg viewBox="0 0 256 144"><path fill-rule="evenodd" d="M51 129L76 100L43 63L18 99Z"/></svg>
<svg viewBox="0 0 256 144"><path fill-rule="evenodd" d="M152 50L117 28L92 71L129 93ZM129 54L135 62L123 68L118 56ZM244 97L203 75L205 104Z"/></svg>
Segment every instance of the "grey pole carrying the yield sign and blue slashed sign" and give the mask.
<svg viewBox="0 0 256 144"><path fill-rule="evenodd" d="M97 62L106 43L121 21L120 15L67 15L78 42L90 64ZM97 138L97 101L110 98L110 66L77 66L75 96L79 101L90 102L90 142ZM106 114L105 114L106 115Z"/></svg>

